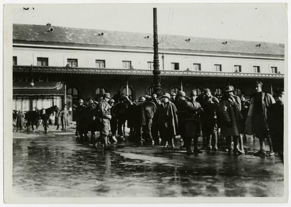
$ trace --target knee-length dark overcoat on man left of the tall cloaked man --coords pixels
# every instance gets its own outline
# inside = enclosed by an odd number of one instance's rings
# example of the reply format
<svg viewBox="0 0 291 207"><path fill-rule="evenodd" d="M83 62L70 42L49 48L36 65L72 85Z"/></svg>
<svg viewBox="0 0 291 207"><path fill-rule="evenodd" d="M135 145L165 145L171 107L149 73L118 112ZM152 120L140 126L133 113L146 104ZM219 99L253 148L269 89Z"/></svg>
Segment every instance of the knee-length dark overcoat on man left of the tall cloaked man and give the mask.
<svg viewBox="0 0 291 207"><path fill-rule="evenodd" d="M241 99L232 96L234 102L224 96L220 101L221 134L222 136L238 136L243 133Z"/></svg>

